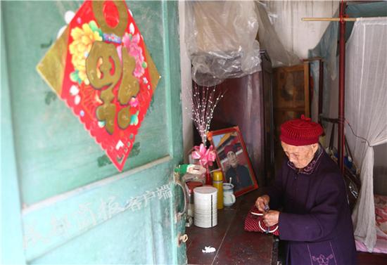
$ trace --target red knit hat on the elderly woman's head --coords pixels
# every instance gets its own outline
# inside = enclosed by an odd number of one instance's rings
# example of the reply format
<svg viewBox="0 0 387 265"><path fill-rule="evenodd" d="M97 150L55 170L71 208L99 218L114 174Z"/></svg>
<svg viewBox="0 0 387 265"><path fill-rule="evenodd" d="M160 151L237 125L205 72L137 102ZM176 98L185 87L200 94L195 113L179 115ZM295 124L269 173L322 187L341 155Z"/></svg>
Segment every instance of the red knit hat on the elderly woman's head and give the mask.
<svg viewBox="0 0 387 265"><path fill-rule="evenodd" d="M279 138L291 146L307 146L318 143L322 131L320 124L301 115L301 119L291 119L281 125Z"/></svg>

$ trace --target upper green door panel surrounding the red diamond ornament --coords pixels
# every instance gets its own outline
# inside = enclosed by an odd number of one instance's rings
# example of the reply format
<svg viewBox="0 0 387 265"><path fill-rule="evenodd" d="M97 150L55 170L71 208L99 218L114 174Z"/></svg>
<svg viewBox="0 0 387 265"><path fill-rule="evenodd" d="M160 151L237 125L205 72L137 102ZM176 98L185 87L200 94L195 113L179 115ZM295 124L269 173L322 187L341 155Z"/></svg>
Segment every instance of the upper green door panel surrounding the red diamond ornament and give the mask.
<svg viewBox="0 0 387 265"><path fill-rule="evenodd" d="M64 25L63 13L59 11L67 11L72 6L80 6L80 3L4 3L6 46L11 55L8 70L15 149L26 205L117 172L71 110L34 70L49 49L46 44L55 41L58 30ZM165 34L162 2L128 2L128 6L132 8L162 79L124 170L168 155L171 144L167 135L165 89L165 78L170 70L164 67L168 47L163 46L162 41ZM31 186L34 189L30 189Z"/></svg>

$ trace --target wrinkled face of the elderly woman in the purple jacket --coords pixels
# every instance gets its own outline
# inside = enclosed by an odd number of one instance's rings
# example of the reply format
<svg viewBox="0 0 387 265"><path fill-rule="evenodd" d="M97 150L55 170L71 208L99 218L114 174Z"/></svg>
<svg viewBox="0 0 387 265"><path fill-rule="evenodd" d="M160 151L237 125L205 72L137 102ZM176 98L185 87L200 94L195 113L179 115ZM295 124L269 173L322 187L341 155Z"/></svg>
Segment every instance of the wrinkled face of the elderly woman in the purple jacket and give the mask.
<svg viewBox="0 0 387 265"><path fill-rule="evenodd" d="M319 148L317 143L313 143L308 146L291 146L287 143L281 142L281 146L290 162L292 162L294 167L298 169L306 167L307 164L312 161L317 149Z"/></svg>

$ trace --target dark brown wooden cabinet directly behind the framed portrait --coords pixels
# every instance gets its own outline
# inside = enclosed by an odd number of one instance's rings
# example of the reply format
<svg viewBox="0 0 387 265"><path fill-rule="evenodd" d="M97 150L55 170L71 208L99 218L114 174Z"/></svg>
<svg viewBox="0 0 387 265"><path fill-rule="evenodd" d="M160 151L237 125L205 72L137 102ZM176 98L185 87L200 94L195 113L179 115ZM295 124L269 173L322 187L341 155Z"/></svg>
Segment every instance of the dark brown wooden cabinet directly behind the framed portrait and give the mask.
<svg viewBox="0 0 387 265"><path fill-rule="evenodd" d="M262 71L218 85L227 90L214 111L210 130L239 126L259 186L274 178L272 63L260 52Z"/></svg>

